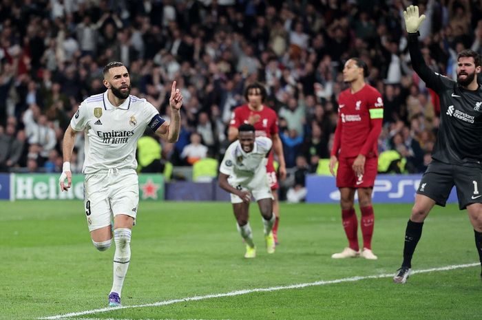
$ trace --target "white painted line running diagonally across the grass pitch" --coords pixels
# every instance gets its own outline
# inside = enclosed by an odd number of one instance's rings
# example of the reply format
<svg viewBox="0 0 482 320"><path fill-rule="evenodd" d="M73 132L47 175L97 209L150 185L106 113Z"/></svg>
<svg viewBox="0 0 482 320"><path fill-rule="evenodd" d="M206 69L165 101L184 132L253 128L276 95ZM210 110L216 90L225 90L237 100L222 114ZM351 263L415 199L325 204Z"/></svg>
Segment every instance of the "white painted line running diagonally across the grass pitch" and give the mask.
<svg viewBox="0 0 482 320"><path fill-rule="evenodd" d="M414 275L414 274L417 274L417 273L431 273L431 272L435 272L435 271L446 271L446 270L454 270L454 269L461 269L461 268L470 268L472 266L480 266L480 265L481 265L480 262L476 262L476 263L473 263L473 264L457 264L457 265L453 265L453 266L444 266L444 267L440 267L440 268L412 270L411 274ZM118 310L118 309L167 306L169 304L174 304L174 303L178 303L178 302L199 301L199 300L205 300L205 299L211 299L211 298L221 298L221 297L233 297L233 296L237 296L237 295L246 295L248 293L253 293L253 292L271 292L271 291L277 291L277 290L299 289L299 288L306 288L306 287L311 287L311 286L324 286L326 284L339 284L339 283L342 283L342 282L353 282L353 281L359 281L359 280L364 280L364 279L380 279L380 278L388 278L388 277L393 277L393 273L382 274L382 275L355 276L355 277L335 279L335 280L326 280L326 281L321 280L321 281L310 282L310 283L307 283L307 284L291 284L289 286L275 286L275 287L270 287L270 288L255 288L255 289L236 290L236 291L231 291L231 292L227 292L227 293L216 293L216 294L213 294L213 295L202 295L202 296L188 297L188 298L183 298L183 299L172 299L172 300L158 301L158 302L154 302L154 303L139 304L137 306L120 306L120 307L109 307L109 308L87 310L87 311L81 311L81 312L71 312L71 313L59 314L59 315L51 316L51 317L40 317L40 318L37 318L37 319L41 319L41 320L63 320L63 319L68 319L70 317L82 316L84 314L96 314L96 313L107 312L107 311Z"/></svg>

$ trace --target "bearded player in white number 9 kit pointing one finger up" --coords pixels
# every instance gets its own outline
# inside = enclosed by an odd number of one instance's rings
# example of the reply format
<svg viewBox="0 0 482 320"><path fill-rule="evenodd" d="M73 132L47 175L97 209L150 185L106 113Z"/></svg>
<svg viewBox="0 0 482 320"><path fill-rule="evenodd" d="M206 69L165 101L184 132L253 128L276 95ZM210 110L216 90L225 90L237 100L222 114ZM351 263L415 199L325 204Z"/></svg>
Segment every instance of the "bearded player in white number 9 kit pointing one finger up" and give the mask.
<svg viewBox="0 0 482 320"><path fill-rule="evenodd" d="M85 217L92 242L100 251L111 246L114 217L116 250L109 306L121 306L121 290L131 257L132 226L139 202L137 140L143 136L146 127L168 142L178 140L182 94L174 81L169 98L171 121L167 122L151 103L130 95L131 81L123 63L107 64L103 75L107 91L85 99L65 131L63 171L59 182L62 191L70 188L70 158L75 136L79 131L85 131L82 169L85 174Z"/></svg>

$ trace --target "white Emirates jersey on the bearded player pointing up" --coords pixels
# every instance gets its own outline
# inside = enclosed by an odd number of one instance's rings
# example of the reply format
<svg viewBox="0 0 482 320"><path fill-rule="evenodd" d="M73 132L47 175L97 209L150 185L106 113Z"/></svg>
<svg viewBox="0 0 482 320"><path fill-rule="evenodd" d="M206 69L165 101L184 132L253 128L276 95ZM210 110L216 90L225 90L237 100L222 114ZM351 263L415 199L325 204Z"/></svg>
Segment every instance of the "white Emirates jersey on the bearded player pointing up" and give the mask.
<svg viewBox="0 0 482 320"><path fill-rule="evenodd" d="M75 131L85 130L83 173L105 169L136 169L137 140L146 127L159 127L164 120L145 99L129 96L114 107L107 91L83 100L70 120ZM160 119L160 120L159 120Z"/></svg>

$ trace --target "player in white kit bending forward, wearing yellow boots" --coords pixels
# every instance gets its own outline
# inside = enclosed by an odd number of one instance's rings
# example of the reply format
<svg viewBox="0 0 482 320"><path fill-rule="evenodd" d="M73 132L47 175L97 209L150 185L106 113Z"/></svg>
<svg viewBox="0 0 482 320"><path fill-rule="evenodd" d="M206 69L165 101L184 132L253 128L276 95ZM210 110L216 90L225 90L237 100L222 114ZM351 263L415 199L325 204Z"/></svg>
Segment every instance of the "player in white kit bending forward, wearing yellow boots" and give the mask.
<svg viewBox="0 0 482 320"><path fill-rule="evenodd" d="M238 140L224 154L220 165L219 185L231 193L231 203L238 222L238 231L246 243L245 258L256 257L253 233L249 226L251 195L258 202L264 225L268 253L275 252L273 237L273 194L266 175L266 162L273 142L270 138L255 137L255 128L247 123L238 128Z"/></svg>

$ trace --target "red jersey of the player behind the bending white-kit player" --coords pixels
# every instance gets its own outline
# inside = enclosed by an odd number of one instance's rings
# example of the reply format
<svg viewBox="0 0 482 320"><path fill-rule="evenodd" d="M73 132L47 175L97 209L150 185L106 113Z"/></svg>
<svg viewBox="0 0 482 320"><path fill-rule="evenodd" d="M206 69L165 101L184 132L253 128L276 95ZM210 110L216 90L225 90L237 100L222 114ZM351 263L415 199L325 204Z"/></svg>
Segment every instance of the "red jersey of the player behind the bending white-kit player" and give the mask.
<svg viewBox="0 0 482 320"><path fill-rule="evenodd" d="M270 107L266 107L266 105L263 105L263 109L261 111L253 111L249 109L248 105L236 107L233 111L233 115L231 116L229 126L239 127L243 123L248 122L249 116L255 116L257 114L260 116L258 122L254 124L257 137L265 136L271 138L273 134L278 133L277 114Z"/></svg>

